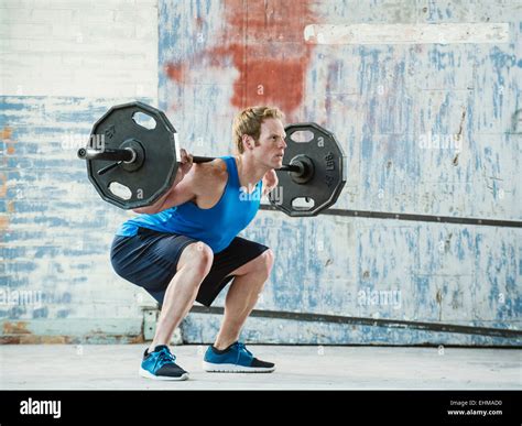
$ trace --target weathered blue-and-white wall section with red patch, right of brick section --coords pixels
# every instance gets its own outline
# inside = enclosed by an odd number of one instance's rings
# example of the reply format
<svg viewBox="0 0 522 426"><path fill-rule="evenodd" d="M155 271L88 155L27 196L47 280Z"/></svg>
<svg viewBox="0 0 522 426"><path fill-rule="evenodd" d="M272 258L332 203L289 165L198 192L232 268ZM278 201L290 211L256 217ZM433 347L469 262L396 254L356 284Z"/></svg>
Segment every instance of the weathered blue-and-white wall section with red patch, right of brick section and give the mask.
<svg viewBox="0 0 522 426"><path fill-rule="evenodd" d="M348 155L336 207L520 220L521 21L519 1L164 0L160 106L211 155L230 152L231 118L249 105L323 124ZM260 309L520 328L519 229L262 211L244 236L276 254ZM184 337L210 341L218 325L192 315ZM244 337L521 342L265 318Z"/></svg>

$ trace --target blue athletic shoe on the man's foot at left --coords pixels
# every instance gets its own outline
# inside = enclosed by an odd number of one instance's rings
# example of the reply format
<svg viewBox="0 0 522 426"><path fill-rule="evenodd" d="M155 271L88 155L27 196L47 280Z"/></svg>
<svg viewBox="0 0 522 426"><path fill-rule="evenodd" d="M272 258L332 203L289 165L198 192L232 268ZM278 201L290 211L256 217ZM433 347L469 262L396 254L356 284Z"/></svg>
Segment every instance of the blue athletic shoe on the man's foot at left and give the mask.
<svg viewBox="0 0 522 426"><path fill-rule="evenodd" d="M187 380L188 373L175 360L166 345L156 346L154 352L145 350L140 375L152 380Z"/></svg>

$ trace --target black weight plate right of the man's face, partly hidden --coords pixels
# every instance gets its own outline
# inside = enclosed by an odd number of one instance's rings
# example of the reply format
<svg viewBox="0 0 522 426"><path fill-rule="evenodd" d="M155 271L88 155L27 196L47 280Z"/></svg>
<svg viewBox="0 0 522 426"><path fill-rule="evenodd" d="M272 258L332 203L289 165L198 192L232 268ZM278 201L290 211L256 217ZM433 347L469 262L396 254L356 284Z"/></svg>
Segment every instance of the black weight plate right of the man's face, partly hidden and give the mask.
<svg viewBox="0 0 522 426"><path fill-rule="evenodd" d="M290 163L297 155L306 155L314 163L314 175L306 183L298 184L289 172L279 172L278 188L270 193L270 203L289 216L316 216L337 201L345 186L345 154L334 134L316 123L291 124L285 131L287 148L283 163ZM312 132L309 142L296 142L292 139L300 131ZM314 206L309 209L293 206L296 198L312 198Z"/></svg>

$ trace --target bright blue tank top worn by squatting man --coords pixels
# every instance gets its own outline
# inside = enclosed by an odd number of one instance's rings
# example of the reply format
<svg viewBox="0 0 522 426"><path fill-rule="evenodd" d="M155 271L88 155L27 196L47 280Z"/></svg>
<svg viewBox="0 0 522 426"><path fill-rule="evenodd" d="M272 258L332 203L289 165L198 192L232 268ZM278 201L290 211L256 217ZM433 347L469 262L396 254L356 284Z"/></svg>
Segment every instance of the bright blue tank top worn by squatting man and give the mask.
<svg viewBox="0 0 522 426"><path fill-rule="evenodd" d="M240 188L235 157L220 159L227 164L228 181L221 198L214 207L202 209L194 201L187 201L159 214L140 215L122 223L116 234L133 237L141 227L194 238L208 244L215 253L225 250L258 212L262 181L248 194Z"/></svg>

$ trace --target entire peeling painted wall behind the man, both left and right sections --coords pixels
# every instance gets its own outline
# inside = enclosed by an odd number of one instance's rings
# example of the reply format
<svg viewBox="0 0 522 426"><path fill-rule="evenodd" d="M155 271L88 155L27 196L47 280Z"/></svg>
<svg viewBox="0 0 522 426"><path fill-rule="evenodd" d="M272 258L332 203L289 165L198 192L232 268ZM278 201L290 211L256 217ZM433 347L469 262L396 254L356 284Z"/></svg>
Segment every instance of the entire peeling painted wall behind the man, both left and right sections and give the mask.
<svg viewBox="0 0 522 426"><path fill-rule="evenodd" d="M130 214L76 160L91 123L131 99L157 102L204 155L230 152L231 118L252 103L325 125L348 155L336 207L521 219L520 1L3 0L0 19L2 341L150 332L154 304L108 260ZM261 211L244 236L276 254L260 309L520 329L518 229ZM191 314L184 339L213 340L218 321ZM243 336L521 343L357 320L251 318Z"/></svg>

